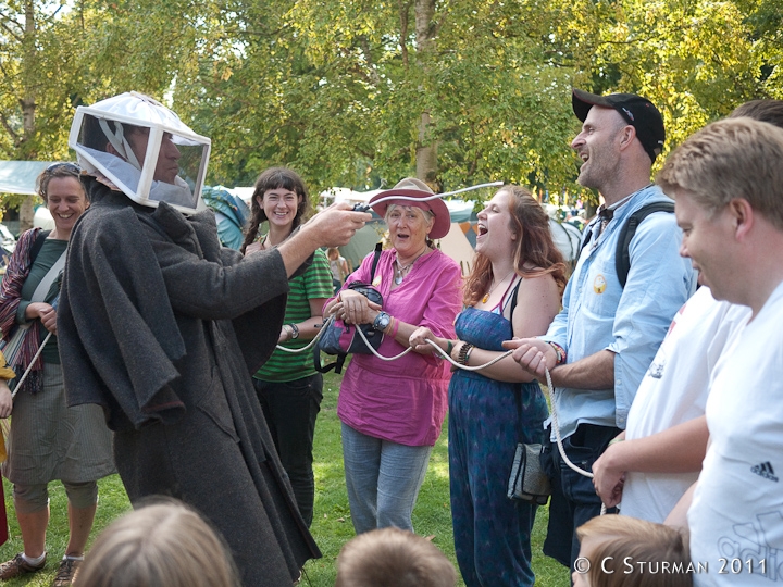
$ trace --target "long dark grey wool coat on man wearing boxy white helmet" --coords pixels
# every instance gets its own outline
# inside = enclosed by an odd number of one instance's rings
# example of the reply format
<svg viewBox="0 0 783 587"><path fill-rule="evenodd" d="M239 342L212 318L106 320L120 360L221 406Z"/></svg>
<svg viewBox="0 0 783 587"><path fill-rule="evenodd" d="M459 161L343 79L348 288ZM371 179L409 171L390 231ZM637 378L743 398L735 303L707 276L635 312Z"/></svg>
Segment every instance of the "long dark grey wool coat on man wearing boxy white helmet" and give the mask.
<svg viewBox="0 0 783 587"><path fill-rule="evenodd" d="M58 335L69 403L99 403L133 502L167 495L226 539L246 587L291 585L321 555L251 373L277 341L276 251L220 247L211 211L133 203L91 177L69 246Z"/></svg>

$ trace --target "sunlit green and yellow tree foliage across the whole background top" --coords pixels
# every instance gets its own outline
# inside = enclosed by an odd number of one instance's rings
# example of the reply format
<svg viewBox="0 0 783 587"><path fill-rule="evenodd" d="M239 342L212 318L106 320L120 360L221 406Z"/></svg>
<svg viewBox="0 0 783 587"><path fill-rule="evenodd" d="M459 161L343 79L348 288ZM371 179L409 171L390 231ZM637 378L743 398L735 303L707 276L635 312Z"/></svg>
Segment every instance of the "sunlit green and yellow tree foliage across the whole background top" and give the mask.
<svg viewBox="0 0 783 587"><path fill-rule="evenodd" d="M25 45L34 5L36 51ZM419 173L584 197L570 88L633 91L667 149L783 98L776 0L52 0L0 2L8 158L65 153L74 105L130 89L213 140L209 180L296 167L313 191ZM25 97L35 132L25 134ZM426 161L425 161L426 160Z"/></svg>

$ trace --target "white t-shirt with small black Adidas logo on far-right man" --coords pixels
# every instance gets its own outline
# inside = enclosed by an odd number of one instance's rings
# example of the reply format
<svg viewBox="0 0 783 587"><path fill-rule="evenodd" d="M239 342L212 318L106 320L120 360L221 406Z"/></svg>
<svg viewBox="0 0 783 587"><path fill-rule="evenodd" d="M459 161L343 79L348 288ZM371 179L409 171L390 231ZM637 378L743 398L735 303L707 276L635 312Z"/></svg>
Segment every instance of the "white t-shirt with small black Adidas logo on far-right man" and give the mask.
<svg viewBox="0 0 783 587"><path fill-rule="evenodd" d="M710 446L688 525L694 564L709 572L695 574L695 584L781 583L783 284L726 347L706 413Z"/></svg>

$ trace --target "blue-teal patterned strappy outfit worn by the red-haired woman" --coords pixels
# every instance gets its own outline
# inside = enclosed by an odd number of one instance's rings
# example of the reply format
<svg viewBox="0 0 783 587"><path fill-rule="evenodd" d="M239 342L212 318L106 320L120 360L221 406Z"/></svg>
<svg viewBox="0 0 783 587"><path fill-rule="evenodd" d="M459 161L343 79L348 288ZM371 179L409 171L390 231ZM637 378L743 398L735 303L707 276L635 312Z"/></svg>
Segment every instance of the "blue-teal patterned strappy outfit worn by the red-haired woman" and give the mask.
<svg viewBox="0 0 783 587"><path fill-rule="evenodd" d="M502 351L511 323L468 308L457 336L481 349ZM537 382L513 384L457 371L449 385L449 476L455 547L468 587L521 587L535 582L531 528L535 507L506 497L518 441L542 442L548 415ZM521 392L522 422L515 392Z"/></svg>

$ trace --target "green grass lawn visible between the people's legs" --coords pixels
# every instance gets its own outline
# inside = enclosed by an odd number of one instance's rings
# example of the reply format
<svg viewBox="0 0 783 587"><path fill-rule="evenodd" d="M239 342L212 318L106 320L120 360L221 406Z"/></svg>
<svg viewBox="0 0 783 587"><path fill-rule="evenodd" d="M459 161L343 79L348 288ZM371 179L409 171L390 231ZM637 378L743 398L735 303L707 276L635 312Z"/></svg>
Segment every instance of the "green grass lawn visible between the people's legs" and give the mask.
<svg viewBox="0 0 783 587"><path fill-rule="evenodd" d="M324 400L315 429L315 513L311 532L321 547L323 558L310 561L304 566L306 579L302 585L312 587L332 587L334 585L337 554L343 545L355 535L345 488L340 424L337 419L337 394L340 378L334 374L324 377ZM447 429L448 426L445 423L444 434L433 450L430 469L413 511L413 526L422 536L432 536L433 542L457 565L449 510ZM22 537L11 500L11 485L7 479L3 479L3 484L10 537L9 541L0 547L0 561L9 560L22 551ZM49 560L46 570L29 577L9 580L3 586L48 587L54 578L59 560L62 558L67 541L67 517L65 515L67 501L65 490L60 483L50 484L49 494L51 522L47 535ZM95 537L112 520L129 509L130 504L120 477L112 475L101 479L92 536ZM536 585L569 587L568 570L542 554L547 517L548 509L539 508L533 529L533 569L536 572ZM487 552L487 555L492 555L492 552ZM460 579L458 585L463 586L464 584Z"/></svg>

